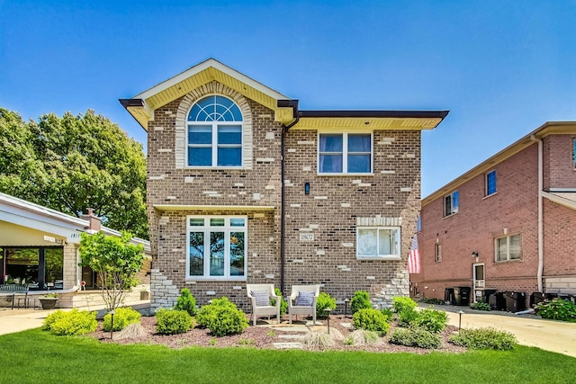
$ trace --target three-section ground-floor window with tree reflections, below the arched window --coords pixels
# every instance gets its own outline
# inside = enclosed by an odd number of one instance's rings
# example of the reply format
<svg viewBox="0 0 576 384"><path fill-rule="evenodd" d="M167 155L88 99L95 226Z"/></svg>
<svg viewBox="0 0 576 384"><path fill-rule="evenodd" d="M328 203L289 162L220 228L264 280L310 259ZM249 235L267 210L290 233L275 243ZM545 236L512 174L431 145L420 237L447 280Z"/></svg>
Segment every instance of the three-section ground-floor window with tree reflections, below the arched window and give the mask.
<svg viewBox="0 0 576 384"><path fill-rule="evenodd" d="M187 217L186 277L246 280L247 218Z"/></svg>

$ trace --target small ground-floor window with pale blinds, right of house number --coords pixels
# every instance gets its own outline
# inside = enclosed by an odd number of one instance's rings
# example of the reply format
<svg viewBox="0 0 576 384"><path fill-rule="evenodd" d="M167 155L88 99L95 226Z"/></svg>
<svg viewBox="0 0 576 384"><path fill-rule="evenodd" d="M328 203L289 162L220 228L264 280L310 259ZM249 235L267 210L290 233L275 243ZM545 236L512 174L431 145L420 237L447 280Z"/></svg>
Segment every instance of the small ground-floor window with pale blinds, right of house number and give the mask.
<svg viewBox="0 0 576 384"><path fill-rule="evenodd" d="M400 227L356 228L356 257L358 259L400 259Z"/></svg>

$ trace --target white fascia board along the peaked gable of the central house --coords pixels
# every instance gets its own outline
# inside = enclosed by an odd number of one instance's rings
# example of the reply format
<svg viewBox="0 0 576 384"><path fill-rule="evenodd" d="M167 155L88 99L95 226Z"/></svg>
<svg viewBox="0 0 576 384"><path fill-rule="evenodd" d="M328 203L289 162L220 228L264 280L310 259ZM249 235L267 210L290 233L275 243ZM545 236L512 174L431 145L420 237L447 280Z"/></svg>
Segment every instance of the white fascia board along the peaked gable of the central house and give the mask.
<svg viewBox="0 0 576 384"><path fill-rule="evenodd" d="M275 100L290 99L289 97L284 96L284 94L280 94L280 93L276 92L274 89L269 88L266 85L263 85L262 83L258 83L256 80L239 73L235 69L232 69L228 66L225 66L224 64L220 63L220 61L217 61L213 58L209 58L206 61L202 61L202 63L195 65L189 69L186 69L184 72L182 72L182 73L180 73L174 77L171 77L171 78L167 79L166 81L164 81L158 85L154 85L153 87L149 88L147 91L144 91L141 94L137 94L136 96L132 97L132 99L144 99L144 100L146 100L149 97L151 97L155 94L158 94L158 93L166 90L167 88L184 81L188 77L192 77L192 76L202 72L204 69L208 69L210 67L213 67L213 68L219 70L220 72L225 73L226 75L237 78L238 81L241 81L242 83L251 86L252 88L256 89L257 91L262 92L263 94L267 94L268 96L274 98Z"/></svg>

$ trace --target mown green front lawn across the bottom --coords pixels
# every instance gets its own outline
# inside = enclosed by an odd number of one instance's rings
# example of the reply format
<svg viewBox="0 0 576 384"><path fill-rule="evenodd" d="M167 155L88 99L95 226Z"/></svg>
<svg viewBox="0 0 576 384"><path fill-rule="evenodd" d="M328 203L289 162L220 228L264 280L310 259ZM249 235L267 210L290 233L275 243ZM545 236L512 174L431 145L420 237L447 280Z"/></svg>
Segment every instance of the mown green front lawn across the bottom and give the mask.
<svg viewBox="0 0 576 384"><path fill-rule="evenodd" d="M39 329L0 336L0 383L572 383L576 359L538 348L462 354L180 350Z"/></svg>

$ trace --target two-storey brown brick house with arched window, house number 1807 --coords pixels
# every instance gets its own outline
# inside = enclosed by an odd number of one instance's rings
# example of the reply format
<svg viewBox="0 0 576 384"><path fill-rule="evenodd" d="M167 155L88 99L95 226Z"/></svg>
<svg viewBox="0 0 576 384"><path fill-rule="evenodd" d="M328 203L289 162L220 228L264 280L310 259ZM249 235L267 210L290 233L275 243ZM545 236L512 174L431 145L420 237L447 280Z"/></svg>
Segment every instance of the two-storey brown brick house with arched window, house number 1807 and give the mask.
<svg viewBox="0 0 576 384"><path fill-rule="evenodd" d="M214 59L121 104L148 131L153 307L187 287L247 309L246 283L409 293L420 130L448 112L301 111Z"/></svg>

